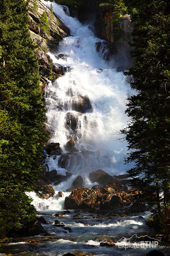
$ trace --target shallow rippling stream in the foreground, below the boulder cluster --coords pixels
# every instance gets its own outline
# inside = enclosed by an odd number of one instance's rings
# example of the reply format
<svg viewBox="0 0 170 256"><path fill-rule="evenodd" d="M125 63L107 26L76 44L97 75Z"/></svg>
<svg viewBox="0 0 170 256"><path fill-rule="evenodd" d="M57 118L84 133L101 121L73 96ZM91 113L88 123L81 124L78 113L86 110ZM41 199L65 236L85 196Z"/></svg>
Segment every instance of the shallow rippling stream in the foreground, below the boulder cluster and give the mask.
<svg viewBox="0 0 170 256"><path fill-rule="evenodd" d="M57 211L50 210L38 213L49 223L43 227L53 234L52 236L15 238L12 243L2 247L1 251L15 256L62 256L68 252L74 254L76 251L83 251L86 255L92 256L143 256L153 250L151 244L140 244L141 239L138 239L151 231L144 220L149 217L150 212L125 218L75 213L74 210L70 210L70 213L58 212L60 216L63 215L61 217L56 217L56 213ZM64 224L65 229L54 225L56 219ZM115 245L100 246L100 242L107 239L115 241Z"/></svg>

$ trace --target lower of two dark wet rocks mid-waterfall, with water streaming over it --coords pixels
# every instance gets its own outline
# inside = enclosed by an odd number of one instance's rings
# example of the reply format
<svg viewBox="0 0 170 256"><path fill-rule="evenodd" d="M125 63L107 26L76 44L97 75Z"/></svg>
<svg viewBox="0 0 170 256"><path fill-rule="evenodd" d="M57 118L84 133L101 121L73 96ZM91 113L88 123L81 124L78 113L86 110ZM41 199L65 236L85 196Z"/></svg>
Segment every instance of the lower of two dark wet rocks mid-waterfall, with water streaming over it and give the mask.
<svg viewBox="0 0 170 256"><path fill-rule="evenodd" d="M80 126L78 117L80 116L80 113L72 113L68 112L65 115L65 128L68 130L72 130L76 132L78 127Z"/></svg>

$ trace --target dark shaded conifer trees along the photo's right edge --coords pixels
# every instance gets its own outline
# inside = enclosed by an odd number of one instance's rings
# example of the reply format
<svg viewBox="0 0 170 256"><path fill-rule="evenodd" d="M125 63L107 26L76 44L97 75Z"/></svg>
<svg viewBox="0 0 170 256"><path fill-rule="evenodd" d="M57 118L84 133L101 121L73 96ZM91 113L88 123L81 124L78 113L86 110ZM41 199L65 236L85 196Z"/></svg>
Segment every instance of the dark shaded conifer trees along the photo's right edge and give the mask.
<svg viewBox="0 0 170 256"><path fill-rule="evenodd" d="M126 113L131 121L122 132L134 162L128 171L144 188L158 214L170 203L170 2L126 0L134 24L134 65L126 75L136 90ZM154 197L155 195L155 197Z"/></svg>

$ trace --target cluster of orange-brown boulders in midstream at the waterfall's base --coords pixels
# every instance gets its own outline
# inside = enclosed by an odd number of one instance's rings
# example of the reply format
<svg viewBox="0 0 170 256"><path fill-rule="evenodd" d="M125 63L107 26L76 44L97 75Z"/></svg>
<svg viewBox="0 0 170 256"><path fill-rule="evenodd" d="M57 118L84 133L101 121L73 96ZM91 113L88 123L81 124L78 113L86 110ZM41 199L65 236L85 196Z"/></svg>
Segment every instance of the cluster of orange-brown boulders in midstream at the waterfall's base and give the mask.
<svg viewBox="0 0 170 256"><path fill-rule="evenodd" d="M74 189L70 196L65 198L66 209L83 209L90 212L106 210L124 215L146 211L141 191L135 188L124 191L125 185L121 180L114 179L103 170L91 172L89 178L103 186Z"/></svg>

